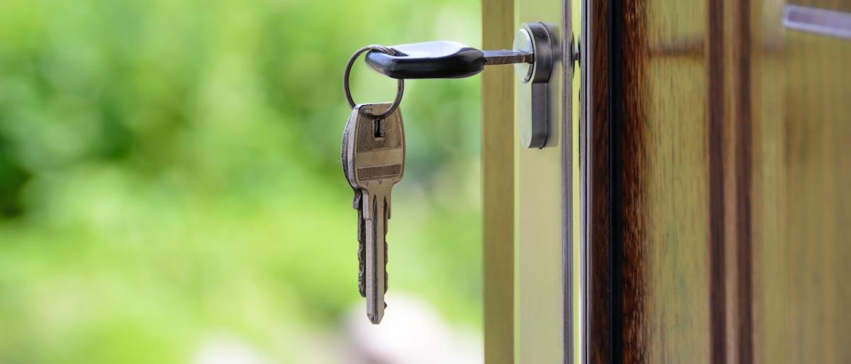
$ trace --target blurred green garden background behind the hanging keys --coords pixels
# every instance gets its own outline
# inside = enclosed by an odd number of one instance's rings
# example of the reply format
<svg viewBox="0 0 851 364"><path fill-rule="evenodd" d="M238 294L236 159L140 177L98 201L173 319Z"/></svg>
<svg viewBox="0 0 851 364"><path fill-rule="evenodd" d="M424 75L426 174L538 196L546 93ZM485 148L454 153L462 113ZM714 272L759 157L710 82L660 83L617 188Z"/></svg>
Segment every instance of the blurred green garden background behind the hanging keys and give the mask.
<svg viewBox="0 0 851 364"><path fill-rule="evenodd" d="M481 361L479 79L413 80L385 323L341 90L477 0L3 0L0 363ZM395 82L358 62L355 98ZM454 359L453 359L454 358Z"/></svg>

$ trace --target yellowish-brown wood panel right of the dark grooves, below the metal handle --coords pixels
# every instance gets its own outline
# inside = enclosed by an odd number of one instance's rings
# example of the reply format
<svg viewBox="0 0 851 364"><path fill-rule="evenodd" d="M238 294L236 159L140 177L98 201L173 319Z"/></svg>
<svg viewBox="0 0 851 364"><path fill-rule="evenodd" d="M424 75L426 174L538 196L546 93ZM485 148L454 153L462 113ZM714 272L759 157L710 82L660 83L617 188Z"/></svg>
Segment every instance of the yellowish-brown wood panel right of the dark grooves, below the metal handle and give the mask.
<svg viewBox="0 0 851 364"><path fill-rule="evenodd" d="M851 10L847 1L795 1ZM851 43L752 14L754 357L851 362ZM757 9L756 7L753 9Z"/></svg>

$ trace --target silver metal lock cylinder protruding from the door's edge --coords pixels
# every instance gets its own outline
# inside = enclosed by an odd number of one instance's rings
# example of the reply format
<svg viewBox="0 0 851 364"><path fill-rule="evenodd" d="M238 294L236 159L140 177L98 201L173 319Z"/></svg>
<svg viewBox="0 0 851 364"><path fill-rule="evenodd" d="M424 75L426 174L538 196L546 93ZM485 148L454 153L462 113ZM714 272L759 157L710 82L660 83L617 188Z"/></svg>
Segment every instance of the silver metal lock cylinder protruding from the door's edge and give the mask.
<svg viewBox="0 0 851 364"><path fill-rule="evenodd" d="M551 30L543 23L524 23L517 31L514 43L518 48L527 48L530 43L534 54L534 63L526 74L523 74L526 70L523 66L517 67L517 76L522 82L517 88L517 108L531 115L518 119L520 145L525 148L543 148L549 136L550 77L558 44L551 36Z"/></svg>

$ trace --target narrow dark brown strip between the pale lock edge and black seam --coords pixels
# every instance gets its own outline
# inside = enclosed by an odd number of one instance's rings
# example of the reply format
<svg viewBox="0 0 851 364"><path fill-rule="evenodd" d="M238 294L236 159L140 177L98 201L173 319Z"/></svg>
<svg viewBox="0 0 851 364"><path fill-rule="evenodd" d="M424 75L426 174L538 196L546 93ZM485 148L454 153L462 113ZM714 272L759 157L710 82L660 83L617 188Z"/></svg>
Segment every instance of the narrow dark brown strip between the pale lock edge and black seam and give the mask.
<svg viewBox="0 0 851 364"><path fill-rule="evenodd" d="M587 239L586 274L588 276L586 327L588 361L613 362L613 274L611 249L611 150L610 69L611 14L608 1L585 2L585 43L582 52L583 102L580 148L585 156Z"/></svg>

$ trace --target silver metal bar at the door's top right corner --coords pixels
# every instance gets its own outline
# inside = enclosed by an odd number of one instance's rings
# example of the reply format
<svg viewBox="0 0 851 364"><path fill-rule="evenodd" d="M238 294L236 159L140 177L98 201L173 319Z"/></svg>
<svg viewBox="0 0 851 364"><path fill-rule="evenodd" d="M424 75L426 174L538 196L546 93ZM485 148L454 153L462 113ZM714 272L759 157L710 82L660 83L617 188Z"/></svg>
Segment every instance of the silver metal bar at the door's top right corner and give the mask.
<svg viewBox="0 0 851 364"><path fill-rule="evenodd" d="M851 14L840 11L786 5L783 26L795 31L851 39Z"/></svg>

